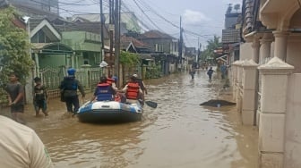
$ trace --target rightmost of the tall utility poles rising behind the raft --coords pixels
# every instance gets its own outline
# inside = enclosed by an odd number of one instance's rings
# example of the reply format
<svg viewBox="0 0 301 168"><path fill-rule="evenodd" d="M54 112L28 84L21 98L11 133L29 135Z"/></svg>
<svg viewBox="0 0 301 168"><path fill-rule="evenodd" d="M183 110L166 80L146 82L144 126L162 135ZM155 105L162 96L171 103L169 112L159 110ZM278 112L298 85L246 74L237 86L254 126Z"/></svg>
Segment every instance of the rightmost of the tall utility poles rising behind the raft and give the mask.
<svg viewBox="0 0 301 168"><path fill-rule="evenodd" d="M120 0L115 2L115 73L117 77L119 75L119 55L120 55ZM119 86L120 80L118 80L117 87Z"/></svg>

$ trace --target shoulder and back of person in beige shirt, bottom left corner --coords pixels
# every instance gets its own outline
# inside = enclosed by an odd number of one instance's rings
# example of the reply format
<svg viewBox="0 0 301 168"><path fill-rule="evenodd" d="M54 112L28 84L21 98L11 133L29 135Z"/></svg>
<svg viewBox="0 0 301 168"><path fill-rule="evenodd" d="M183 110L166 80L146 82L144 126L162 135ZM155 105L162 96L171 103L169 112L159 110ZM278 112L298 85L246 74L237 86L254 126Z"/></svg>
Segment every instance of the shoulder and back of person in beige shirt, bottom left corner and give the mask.
<svg viewBox="0 0 301 168"><path fill-rule="evenodd" d="M0 115L0 135L0 167L54 167L47 148L29 127Z"/></svg>

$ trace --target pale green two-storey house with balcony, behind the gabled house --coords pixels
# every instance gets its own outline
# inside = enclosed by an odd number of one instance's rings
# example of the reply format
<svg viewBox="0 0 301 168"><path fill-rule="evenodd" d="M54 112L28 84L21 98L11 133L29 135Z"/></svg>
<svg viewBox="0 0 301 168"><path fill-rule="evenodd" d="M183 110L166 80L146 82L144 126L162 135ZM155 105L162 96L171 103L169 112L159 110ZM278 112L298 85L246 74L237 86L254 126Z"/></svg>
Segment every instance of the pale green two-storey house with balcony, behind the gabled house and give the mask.
<svg viewBox="0 0 301 168"><path fill-rule="evenodd" d="M75 68L80 68L82 64L99 67L99 63L104 59L101 53L100 22L71 22L58 19L52 23L62 33L62 43L73 48L77 59ZM109 56L108 31L105 26L103 30L105 55Z"/></svg>

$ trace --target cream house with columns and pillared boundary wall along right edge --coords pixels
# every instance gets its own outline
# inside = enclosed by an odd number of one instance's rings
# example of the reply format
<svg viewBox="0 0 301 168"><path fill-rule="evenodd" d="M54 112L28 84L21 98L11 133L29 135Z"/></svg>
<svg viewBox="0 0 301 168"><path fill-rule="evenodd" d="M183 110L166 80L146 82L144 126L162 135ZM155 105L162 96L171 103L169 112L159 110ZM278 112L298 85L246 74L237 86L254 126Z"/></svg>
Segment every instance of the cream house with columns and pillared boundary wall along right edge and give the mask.
<svg viewBox="0 0 301 168"><path fill-rule="evenodd" d="M259 167L301 167L301 5L244 0L232 81L243 123L259 130Z"/></svg>

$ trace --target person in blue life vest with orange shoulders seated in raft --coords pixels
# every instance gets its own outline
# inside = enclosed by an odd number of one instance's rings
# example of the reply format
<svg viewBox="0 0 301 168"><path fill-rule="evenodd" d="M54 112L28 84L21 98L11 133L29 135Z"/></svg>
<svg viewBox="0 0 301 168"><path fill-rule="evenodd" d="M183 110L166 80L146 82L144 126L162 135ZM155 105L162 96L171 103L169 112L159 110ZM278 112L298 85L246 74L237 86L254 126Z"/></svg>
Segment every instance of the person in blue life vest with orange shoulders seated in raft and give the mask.
<svg viewBox="0 0 301 168"><path fill-rule="evenodd" d="M95 88L93 97L91 97L90 102L93 102L95 99L97 101L111 101L114 100L115 94L116 90L107 83L107 77L103 76L100 78L100 82Z"/></svg>

